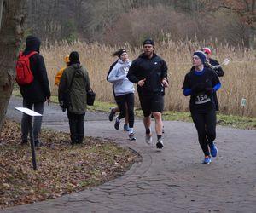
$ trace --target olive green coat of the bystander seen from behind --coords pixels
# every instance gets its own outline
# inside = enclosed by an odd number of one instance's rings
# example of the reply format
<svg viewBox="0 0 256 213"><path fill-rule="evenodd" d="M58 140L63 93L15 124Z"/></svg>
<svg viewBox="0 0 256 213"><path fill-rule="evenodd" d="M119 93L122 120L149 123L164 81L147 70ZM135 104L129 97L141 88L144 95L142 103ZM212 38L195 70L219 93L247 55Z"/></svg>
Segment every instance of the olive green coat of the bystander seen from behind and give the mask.
<svg viewBox="0 0 256 213"><path fill-rule="evenodd" d="M59 101L61 101L63 93L69 88L74 73L75 76L70 89L71 105L68 107L68 111L74 114L83 114L87 107L87 91L90 90L90 79L88 72L80 64L67 66L64 70L58 90Z"/></svg>

